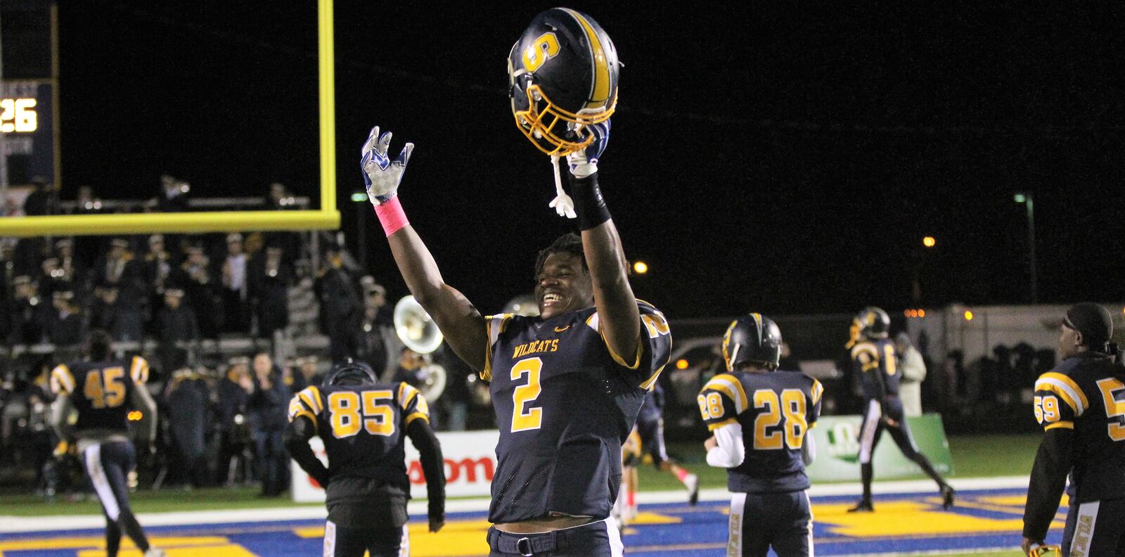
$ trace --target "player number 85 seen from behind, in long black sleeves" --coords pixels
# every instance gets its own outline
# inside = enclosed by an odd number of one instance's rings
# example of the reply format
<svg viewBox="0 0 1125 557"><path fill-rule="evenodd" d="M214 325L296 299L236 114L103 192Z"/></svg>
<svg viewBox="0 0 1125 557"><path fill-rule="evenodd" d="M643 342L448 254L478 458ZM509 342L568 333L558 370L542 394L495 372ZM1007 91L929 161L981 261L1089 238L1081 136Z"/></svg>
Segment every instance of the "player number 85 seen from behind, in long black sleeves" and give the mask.
<svg viewBox="0 0 1125 557"><path fill-rule="evenodd" d="M324 441L327 467L308 446L314 435ZM430 408L416 388L380 384L367 363L349 359L333 367L322 386L292 397L285 444L327 494L325 557L410 555L407 437L421 455L430 531L436 532L446 522L446 469Z"/></svg>

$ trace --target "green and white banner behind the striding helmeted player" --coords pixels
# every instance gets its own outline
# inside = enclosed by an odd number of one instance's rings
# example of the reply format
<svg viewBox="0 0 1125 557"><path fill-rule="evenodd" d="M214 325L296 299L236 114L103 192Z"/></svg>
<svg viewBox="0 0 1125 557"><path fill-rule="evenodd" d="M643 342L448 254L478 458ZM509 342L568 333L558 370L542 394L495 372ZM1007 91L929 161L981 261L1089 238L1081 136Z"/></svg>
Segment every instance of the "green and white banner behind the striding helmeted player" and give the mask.
<svg viewBox="0 0 1125 557"><path fill-rule="evenodd" d="M934 469L943 475L953 471L950 441L939 414L908 417L918 451L926 455ZM817 459L808 467L809 479L839 482L860 479L860 424L863 416L821 416L809 434L816 438ZM875 477L902 478L922 474L918 465L907 460L894 444L890 433L883 431L872 456Z"/></svg>

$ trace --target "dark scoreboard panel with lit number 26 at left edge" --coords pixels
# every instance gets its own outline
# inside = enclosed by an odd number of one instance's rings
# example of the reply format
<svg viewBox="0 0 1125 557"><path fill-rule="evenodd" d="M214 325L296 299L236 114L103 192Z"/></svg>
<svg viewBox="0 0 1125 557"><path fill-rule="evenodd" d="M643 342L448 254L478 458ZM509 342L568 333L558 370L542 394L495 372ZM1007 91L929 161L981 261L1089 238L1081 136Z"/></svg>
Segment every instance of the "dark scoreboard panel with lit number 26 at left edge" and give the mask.
<svg viewBox="0 0 1125 557"><path fill-rule="evenodd" d="M58 182L58 135L53 80L4 80L0 86L0 149L8 183Z"/></svg>

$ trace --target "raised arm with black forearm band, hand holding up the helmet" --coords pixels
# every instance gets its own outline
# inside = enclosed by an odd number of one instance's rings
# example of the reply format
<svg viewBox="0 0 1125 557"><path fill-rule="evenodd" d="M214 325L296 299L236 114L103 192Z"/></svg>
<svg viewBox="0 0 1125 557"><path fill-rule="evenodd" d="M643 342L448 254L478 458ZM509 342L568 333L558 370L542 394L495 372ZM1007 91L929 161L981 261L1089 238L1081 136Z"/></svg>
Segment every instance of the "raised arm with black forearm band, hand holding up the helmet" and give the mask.
<svg viewBox="0 0 1125 557"><path fill-rule="evenodd" d="M621 236L597 186L597 160L610 141L610 120L587 129L594 134L594 142L585 151L567 155L570 191L602 334L613 353L632 363L639 357L640 311L629 285Z"/></svg>

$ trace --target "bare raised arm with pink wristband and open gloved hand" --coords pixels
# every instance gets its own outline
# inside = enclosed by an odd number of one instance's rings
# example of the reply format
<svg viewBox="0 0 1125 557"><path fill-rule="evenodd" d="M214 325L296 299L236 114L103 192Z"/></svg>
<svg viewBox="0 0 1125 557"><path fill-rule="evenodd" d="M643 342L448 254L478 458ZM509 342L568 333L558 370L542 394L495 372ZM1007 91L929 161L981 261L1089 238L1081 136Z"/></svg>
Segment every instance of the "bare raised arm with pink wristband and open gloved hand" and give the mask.
<svg viewBox="0 0 1125 557"><path fill-rule="evenodd" d="M398 203L398 183L406 171L413 143L407 143L394 161L387 158L390 132L379 135L379 126L363 144L363 181L367 196L382 224L395 263L411 294L433 317L450 348L466 363L480 371L485 367L488 330L485 318L456 288L446 284L430 250L406 221Z"/></svg>

